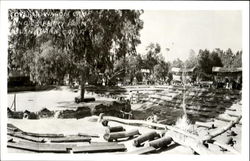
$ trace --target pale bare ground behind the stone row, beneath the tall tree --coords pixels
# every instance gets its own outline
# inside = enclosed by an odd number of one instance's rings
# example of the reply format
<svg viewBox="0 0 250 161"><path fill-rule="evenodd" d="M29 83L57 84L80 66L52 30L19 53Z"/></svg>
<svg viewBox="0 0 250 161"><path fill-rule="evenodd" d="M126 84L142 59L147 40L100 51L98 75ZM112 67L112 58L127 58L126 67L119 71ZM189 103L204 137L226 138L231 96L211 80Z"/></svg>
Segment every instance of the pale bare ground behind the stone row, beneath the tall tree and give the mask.
<svg viewBox="0 0 250 161"><path fill-rule="evenodd" d="M74 91L67 86L46 91L18 92L16 93L17 111L37 112L43 108L49 110L62 110L74 105L75 97L80 96L80 90ZM94 93L85 93L85 97L95 97L98 100L107 100ZM14 93L8 94L8 107L11 107Z"/></svg>

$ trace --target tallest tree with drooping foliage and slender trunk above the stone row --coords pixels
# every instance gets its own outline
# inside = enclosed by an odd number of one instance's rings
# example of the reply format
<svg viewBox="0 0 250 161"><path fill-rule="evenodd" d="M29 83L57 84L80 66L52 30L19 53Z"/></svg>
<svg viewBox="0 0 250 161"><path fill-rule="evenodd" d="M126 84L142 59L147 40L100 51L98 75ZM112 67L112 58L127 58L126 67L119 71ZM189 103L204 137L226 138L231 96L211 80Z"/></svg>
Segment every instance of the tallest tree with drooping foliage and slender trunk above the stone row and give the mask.
<svg viewBox="0 0 250 161"><path fill-rule="evenodd" d="M125 59L127 54L135 53L143 27L142 13L138 10L11 9L9 66L25 69L27 61L23 53L29 49L41 54L38 39L48 35L53 46L68 54L65 59L70 62L69 73L80 79L83 99L84 85L91 72L105 72L112 68L114 59ZM44 66L33 64L35 70L33 67L25 70L35 73Z"/></svg>

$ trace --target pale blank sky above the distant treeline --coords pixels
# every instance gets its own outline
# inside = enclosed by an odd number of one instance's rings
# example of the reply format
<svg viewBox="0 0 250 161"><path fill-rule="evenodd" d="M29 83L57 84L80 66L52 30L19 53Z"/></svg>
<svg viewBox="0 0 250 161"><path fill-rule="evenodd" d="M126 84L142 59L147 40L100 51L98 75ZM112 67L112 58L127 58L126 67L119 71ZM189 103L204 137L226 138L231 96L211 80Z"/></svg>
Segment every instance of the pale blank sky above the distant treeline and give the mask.
<svg viewBox="0 0 250 161"><path fill-rule="evenodd" d="M193 49L220 48L242 50L242 17L240 11L166 11L145 10L141 15L138 53L145 54L151 42L159 43L167 61L186 60ZM166 50L169 48L169 51Z"/></svg>

